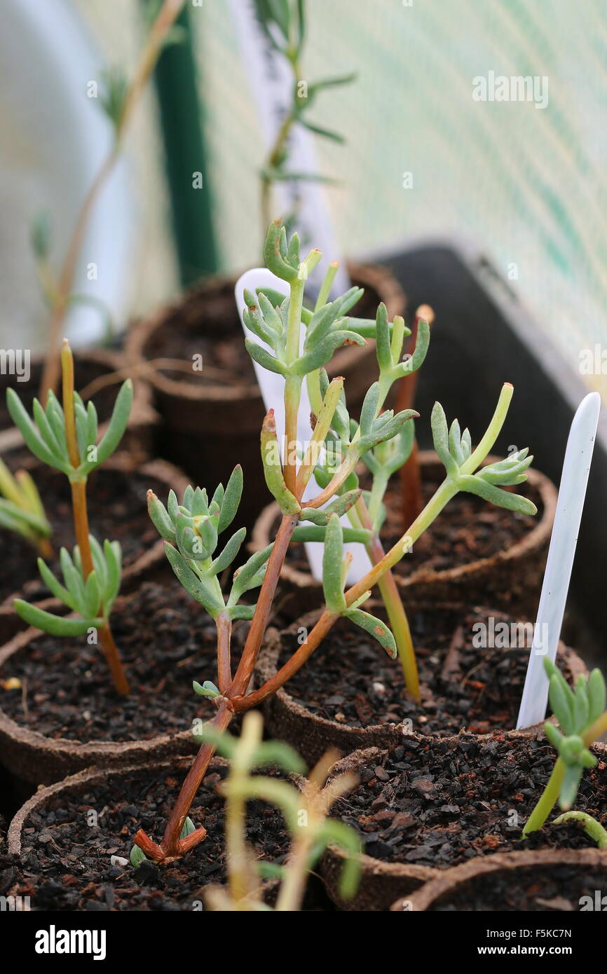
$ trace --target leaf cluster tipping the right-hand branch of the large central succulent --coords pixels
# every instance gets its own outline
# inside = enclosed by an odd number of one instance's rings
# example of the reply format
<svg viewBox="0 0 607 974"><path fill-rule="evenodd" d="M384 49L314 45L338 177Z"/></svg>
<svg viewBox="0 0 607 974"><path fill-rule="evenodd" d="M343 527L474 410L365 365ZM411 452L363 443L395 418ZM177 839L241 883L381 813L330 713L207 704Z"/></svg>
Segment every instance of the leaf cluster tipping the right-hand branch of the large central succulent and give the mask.
<svg viewBox="0 0 607 974"><path fill-rule="evenodd" d="M431 425L435 450L446 470L447 480L458 490L475 494L491 504L520 514L537 513L537 507L528 498L500 489L521 484L527 479L525 471L533 461L533 457L528 456L528 449L518 450L505 460L470 473L462 470L472 454L470 431L461 432L457 420L453 420L448 428L439 402L435 403L432 411Z"/></svg>

